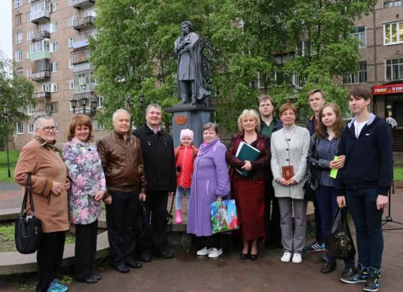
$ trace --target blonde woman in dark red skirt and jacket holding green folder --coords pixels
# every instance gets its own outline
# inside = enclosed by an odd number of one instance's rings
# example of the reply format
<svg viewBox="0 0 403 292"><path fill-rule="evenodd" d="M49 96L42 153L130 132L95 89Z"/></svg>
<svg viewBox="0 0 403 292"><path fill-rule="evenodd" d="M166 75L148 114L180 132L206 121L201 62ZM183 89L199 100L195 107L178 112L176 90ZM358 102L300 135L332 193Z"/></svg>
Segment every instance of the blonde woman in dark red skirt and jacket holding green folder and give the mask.
<svg viewBox="0 0 403 292"><path fill-rule="evenodd" d="M241 226L243 249L241 258L257 259L257 241L265 235L264 222L264 180L270 167L270 149L267 138L256 129L259 129L259 116L254 110L244 110L238 118L238 128L241 133L236 134L226 153L227 163L231 165L231 189L234 194L238 219ZM255 161L241 160L236 157L241 142L257 148L260 153ZM247 170L247 176L241 175L238 170Z"/></svg>

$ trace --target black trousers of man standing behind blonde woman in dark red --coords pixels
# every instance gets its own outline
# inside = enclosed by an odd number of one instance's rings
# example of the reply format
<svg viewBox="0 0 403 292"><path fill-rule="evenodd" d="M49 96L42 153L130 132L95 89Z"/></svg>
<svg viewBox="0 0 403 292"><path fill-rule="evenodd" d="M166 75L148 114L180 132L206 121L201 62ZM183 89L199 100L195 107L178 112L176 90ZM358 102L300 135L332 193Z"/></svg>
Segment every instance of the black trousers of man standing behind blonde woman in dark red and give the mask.
<svg viewBox="0 0 403 292"><path fill-rule="evenodd" d="M266 245L277 246L281 244L280 208L278 207L278 199L274 196L273 185L269 180L265 183L265 211Z"/></svg>

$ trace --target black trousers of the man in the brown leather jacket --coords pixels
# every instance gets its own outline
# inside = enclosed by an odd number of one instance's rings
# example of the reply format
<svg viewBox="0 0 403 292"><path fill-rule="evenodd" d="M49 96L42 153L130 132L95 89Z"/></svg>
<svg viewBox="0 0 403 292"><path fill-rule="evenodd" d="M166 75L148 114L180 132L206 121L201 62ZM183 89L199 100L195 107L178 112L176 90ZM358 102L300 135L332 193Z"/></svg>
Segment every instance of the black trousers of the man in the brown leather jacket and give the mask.
<svg viewBox="0 0 403 292"><path fill-rule="evenodd" d="M139 192L109 190L112 204L106 205L109 253L115 265L125 264L136 249L135 223Z"/></svg>

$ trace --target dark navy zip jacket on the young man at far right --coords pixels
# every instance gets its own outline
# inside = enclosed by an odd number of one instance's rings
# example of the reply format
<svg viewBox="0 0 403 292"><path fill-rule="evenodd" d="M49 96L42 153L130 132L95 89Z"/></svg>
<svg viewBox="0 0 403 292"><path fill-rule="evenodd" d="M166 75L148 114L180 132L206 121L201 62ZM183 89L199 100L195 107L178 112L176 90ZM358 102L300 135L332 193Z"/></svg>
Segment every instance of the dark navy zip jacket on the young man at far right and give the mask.
<svg viewBox="0 0 403 292"><path fill-rule="evenodd" d="M378 188L386 196L392 182L392 141L390 127L378 116L370 114L358 139L352 119L341 134L339 155L346 155L344 167L336 177L338 196L346 189Z"/></svg>

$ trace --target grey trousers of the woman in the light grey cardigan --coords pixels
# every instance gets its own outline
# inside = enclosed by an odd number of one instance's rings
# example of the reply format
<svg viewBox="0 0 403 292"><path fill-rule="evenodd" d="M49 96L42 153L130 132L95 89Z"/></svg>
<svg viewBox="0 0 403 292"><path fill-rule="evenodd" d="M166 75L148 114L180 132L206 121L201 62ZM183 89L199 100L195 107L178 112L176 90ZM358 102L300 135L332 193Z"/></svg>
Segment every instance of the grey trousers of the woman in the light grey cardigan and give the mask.
<svg viewBox="0 0 403 292"><path fill-rule="evenodd" d="M295 231L292 230L292 205ZM280 207L281 243L284 251L302 253L307 230L307 201L278 198Z"/></svg>

